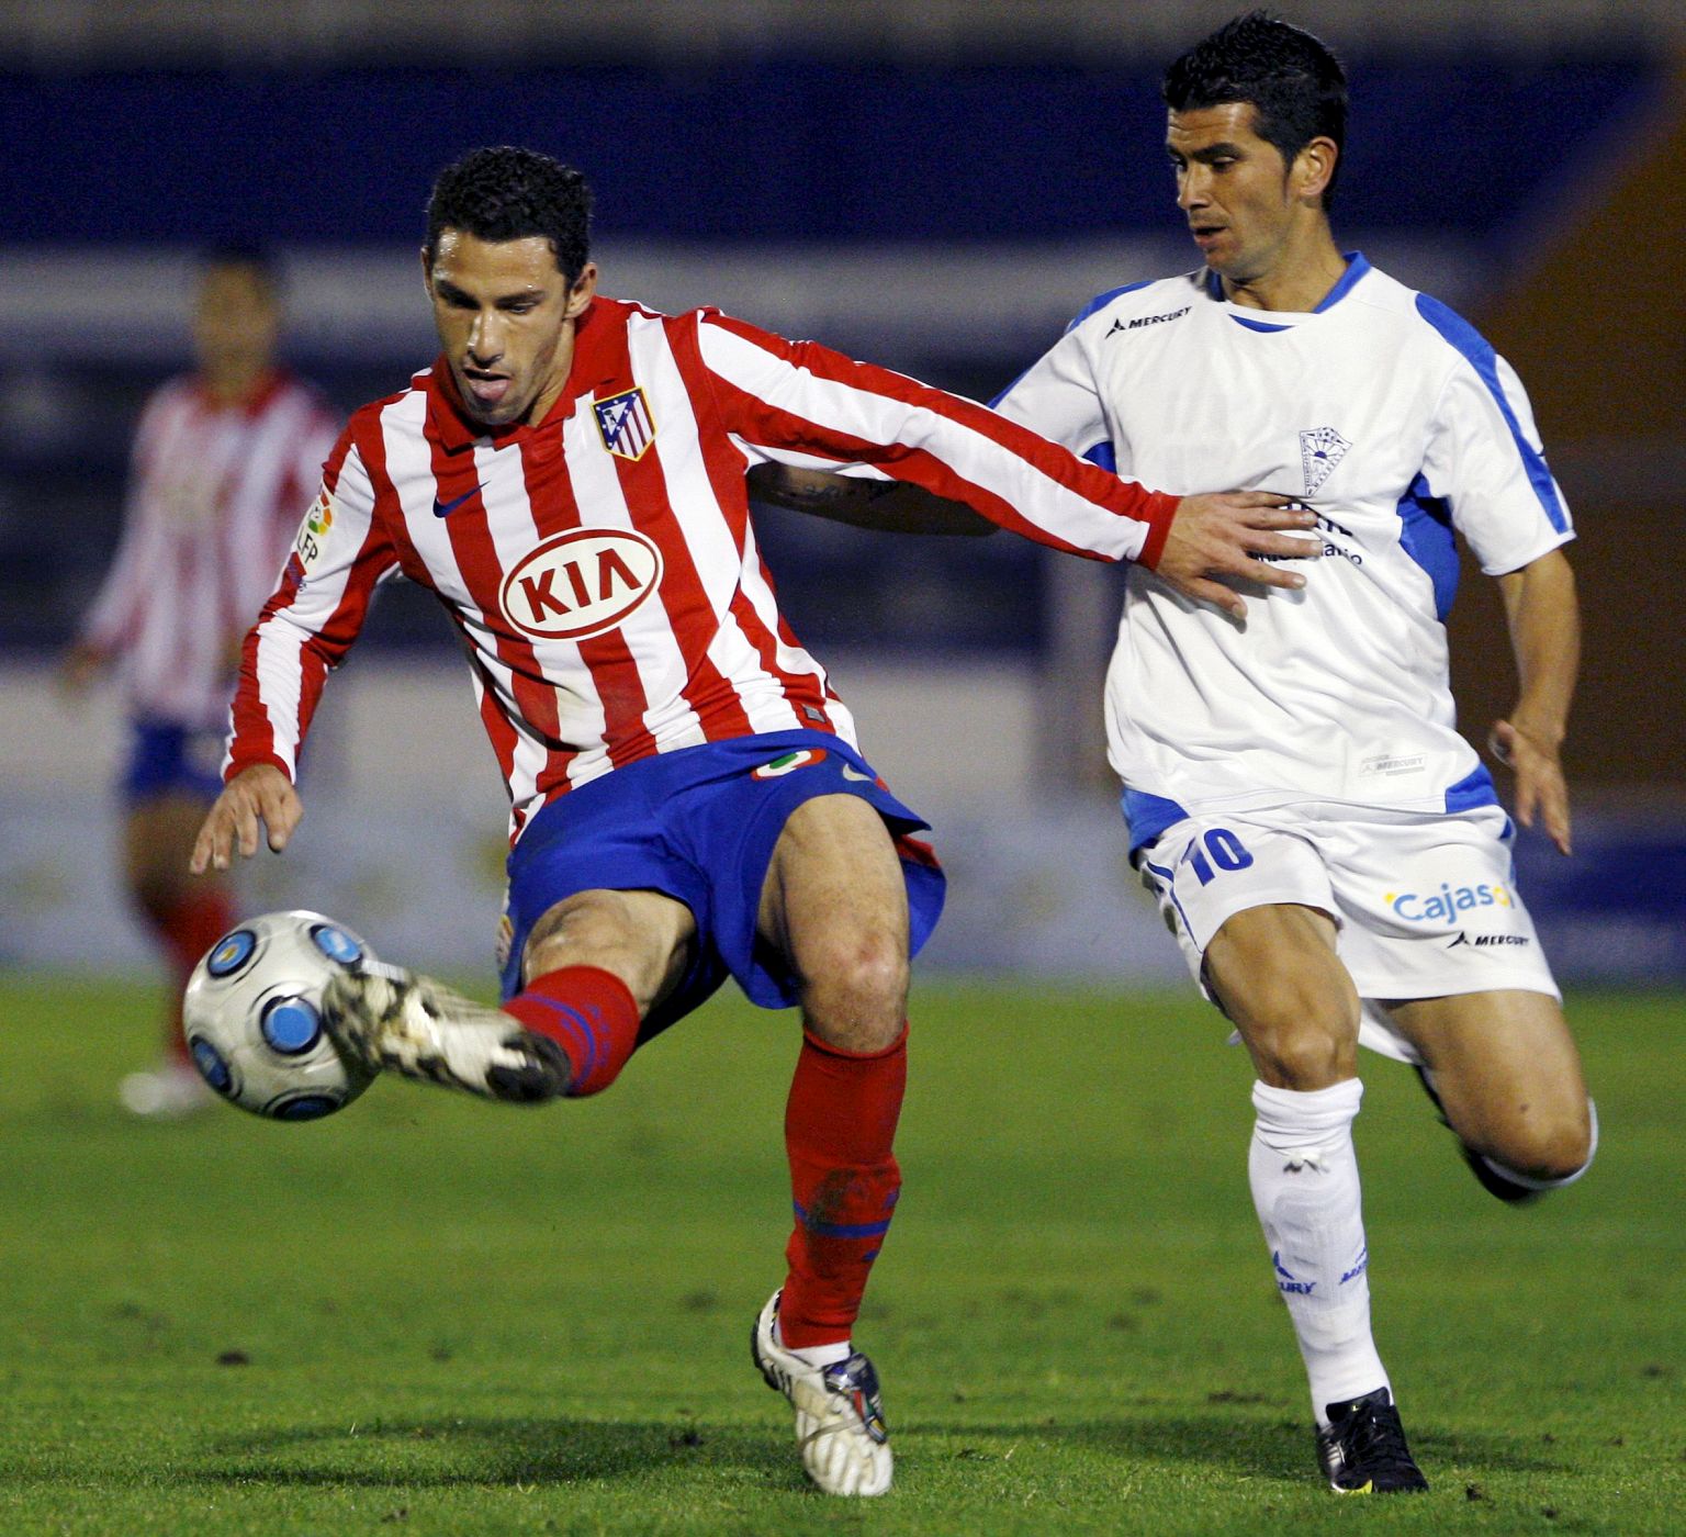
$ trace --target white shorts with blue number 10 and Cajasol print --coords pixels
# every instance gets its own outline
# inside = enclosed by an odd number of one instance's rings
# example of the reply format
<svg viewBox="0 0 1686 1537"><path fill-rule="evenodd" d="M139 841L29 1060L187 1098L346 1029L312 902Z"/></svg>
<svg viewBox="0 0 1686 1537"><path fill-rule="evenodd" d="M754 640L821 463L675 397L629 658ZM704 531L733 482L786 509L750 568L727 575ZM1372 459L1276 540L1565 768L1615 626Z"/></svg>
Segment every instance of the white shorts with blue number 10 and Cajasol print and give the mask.
<svg viewBox="0 0 1686 1537"><path fill-rule="evenodd" d="M1202 990L1205 946L1236 913L1276 903L1327 913L1364 1000L1361 1044L1415 1063L1379 1007L1386 999L1501 989L1561 999L1516 891L1514 837L1499 806L1425 813L1318 801L1199 813L1136 859Z"/></svg>

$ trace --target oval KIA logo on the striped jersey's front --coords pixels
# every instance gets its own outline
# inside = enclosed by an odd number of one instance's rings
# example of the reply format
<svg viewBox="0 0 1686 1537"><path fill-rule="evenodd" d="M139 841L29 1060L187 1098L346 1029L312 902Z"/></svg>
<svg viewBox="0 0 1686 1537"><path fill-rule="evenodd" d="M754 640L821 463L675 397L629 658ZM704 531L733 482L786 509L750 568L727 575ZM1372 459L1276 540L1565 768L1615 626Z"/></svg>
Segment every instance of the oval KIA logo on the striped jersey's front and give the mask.
<svg viewBox="0 0 1686 1537"><path fill-rule="evenodd" d="M524 557L499 602L523 634L583 641L624 623L659 582L661 550L642 533L575 528Z"/></svg>

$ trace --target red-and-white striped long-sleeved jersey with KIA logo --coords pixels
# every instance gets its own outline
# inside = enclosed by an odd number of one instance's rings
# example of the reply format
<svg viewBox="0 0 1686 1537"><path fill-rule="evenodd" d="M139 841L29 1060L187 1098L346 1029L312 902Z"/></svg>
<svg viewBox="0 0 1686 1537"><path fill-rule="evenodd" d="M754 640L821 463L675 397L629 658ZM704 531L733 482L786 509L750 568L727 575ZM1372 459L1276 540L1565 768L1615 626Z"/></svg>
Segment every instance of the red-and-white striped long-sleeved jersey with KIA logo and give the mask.
<svg viewBox="0 0 1686 1537"><path fill-rule="evenodd" d="M443 361L357 412L246 639L224 773L288 776L376 585L432 587L469 653L511 837L652 752L853 722L779 614L755 464L863 462L1042 543L1155 558L1175 499L973 402L727 319L597 299L534 425L486 429Z"/></svg>

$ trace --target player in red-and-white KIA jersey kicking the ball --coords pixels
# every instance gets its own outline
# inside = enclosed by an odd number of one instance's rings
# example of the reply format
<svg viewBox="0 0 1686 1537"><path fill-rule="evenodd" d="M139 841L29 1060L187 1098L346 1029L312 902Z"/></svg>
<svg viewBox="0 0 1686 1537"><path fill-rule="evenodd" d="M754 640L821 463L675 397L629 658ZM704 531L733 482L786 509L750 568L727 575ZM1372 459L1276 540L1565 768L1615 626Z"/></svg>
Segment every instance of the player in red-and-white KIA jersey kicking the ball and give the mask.
<svg viewBox="0 0 1686 1537"><path fill-rule="evenodd" d="M900 1188L909 957L942 876L779 614L752 466L870 461L1066 550L1302 577L1283 498L1173 501L986 408L715 310L597 294L588 189L521 148L447 167L423 278L442 356L359 410L246 639L226 788L192 867L285 845L324 678L400 572L445 604L511 798L502 1009L396 968L327 997L344 1051L499 1100L607 1088L730 973L803 1011L786 1110L787 1279L754 1356L819 1488L878 1495L890 1448L851 1343Z"/></svg>

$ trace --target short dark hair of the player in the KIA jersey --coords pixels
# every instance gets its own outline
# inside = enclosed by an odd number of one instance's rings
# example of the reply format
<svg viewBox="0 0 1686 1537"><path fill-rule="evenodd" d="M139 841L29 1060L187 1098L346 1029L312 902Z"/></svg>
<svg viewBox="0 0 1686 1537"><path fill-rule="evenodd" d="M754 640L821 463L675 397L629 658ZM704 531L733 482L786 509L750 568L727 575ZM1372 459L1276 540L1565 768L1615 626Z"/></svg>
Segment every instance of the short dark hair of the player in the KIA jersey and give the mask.
<svg viewBox="0 0 1686 1537"><path fill-rule="evenodd" d="M442 229L496 241L540 235L573 287L590 251L590 223L592 189L578 170L538 150L497 145L470 150L438 174L427 204L425 250L432 262Z"/></svg>

